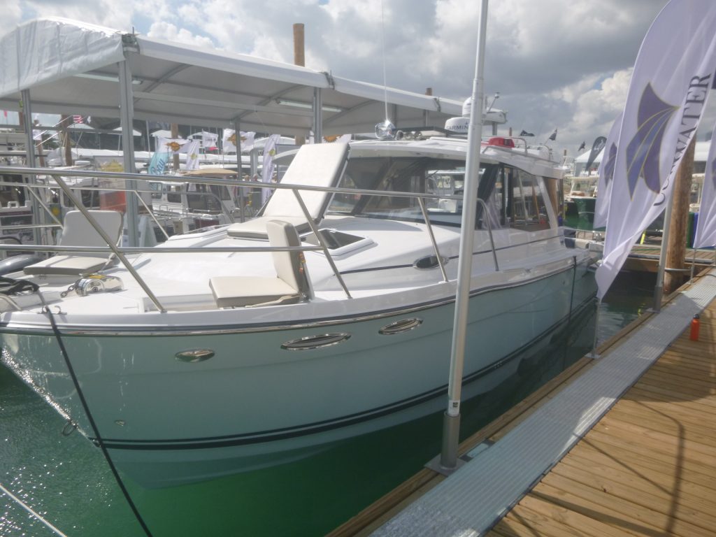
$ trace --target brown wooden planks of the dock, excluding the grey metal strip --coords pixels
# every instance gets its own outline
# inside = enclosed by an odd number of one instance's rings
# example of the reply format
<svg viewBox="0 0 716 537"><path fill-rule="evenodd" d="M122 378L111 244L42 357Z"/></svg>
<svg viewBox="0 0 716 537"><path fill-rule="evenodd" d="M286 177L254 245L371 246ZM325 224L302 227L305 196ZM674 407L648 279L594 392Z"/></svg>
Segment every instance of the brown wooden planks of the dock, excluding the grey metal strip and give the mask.
<svg viewBox="0 0 716 537"><path fill-rule="evenodd" d="M714 278L715 276L702 276ZM679 289L669 299L679 295ZM647 314L599 347L604 356L649 321ZM548 473L523 490L487 533L521 536L713 536L716 534L716 302L618 398ZM460 445L495 445L599 360L584 358ZM460 473L460 470L458 470ZM446 478L420 470L330 536L367 536ZM475 485L479 488L482 484ZM465 528L470 531L470 528ZM430 534L430 533L426 533ZM477 536L478 533L464 533Z"/></svg>

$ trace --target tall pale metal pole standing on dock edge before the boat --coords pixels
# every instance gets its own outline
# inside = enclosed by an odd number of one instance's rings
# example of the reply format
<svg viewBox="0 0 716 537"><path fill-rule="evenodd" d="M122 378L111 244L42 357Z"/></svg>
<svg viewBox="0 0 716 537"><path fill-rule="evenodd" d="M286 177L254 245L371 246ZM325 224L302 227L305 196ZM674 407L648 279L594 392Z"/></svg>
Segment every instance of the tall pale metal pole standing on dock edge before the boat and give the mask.
<svg viewBox="0 0 716 537"><path fill-rule="evenodd" d="M458 266L458 289L455 296L455 321L453 347L450 353L450 379L448 381L448 410L442 422L442 452L440 466L454 470L458 465L460 442L460 395L463 388L463 364L465 362L465 335L468 324L470 279L473 271L473 237L475 213L477 212L478 180L480 174L480 137L483 128L483 70L485 65L485 32L487 29L488 0L480 1L480 26L478 49L473 80L473 104L470 110L468 131L468 155L465 163L465 189L463 192L463 218L460 233L460 266Z"/></svg>

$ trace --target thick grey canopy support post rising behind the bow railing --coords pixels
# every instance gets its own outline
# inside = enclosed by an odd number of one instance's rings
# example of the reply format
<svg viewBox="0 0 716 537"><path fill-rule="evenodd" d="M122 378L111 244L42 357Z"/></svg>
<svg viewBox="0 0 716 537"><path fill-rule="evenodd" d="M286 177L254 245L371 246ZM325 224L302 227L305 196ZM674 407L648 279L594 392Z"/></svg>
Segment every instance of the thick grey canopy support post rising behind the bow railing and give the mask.
<svg viewBox="0 0 716 537"><path fill-rule="evenodd" d="M127 52L125 52L127 54ZM134 100L132 97L132 72L129 62L120 62L120 125L122 125L122 158L125 172L135 173L134 137L132 120L134 118ZM128 179L127 190L137 190L137 181ZM127 211L127 242L129 246L139 245L139 204L134 195L125 195Z"/></svg>

